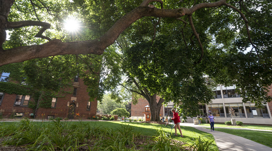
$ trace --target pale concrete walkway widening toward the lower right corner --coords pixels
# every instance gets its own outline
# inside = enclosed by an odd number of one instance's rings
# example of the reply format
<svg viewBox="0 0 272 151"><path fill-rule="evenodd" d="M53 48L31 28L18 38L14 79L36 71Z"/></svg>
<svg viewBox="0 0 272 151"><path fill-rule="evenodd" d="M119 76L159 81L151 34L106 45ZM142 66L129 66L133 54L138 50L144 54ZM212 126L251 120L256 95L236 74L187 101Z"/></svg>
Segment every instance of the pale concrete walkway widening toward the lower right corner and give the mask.
<svg viewBox="0 0 272 151"><path fill-rule="evenodd" d="M207 129L206 127L198 126L198 125L194 125L190 123L181 123L180 125L195 127L198 130L212 134L215 139L215 143L218 146L220 151L270 151L272 150L272 148L268 146L262 145L252 140L245 139L244 137L239 137L236 135L219 132L216 130L215 132L211 132L211 130ZM222 128L222 127L218 127L218 128ZM229 128L229 129L233 129L233 128Z"/></svg>

